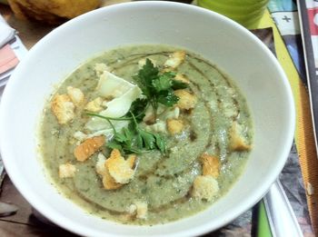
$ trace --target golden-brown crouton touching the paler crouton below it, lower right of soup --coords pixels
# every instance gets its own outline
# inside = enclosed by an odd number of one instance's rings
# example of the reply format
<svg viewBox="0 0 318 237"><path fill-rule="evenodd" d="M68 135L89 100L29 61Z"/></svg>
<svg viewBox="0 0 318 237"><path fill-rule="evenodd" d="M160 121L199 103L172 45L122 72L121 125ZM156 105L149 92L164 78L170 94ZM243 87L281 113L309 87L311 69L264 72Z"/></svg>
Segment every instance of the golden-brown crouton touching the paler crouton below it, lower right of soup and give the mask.
<svg viewBox="0 0 318 237"><path fill-rule="evenodd" d="M202 174L212 175L217 178L220 174L220 161L214 155L203 153L200 157L202 163Z"/></svg>

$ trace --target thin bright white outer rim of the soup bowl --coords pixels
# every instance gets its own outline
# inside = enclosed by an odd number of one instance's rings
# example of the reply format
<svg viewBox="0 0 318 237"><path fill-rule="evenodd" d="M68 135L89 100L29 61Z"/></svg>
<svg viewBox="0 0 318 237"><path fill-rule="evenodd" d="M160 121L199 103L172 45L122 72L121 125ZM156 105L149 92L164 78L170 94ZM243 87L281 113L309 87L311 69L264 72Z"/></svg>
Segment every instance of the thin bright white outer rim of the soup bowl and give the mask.
<svg viewBox="0 0 318 237"><path fill-rule="evenodd" d="M217 13L214 13L213 11L204 9L202 7L199 7L199 6L187 5L187 4L176 3L176 2L161 2L161 1L129 2L129 3L116 4L116 5L109 5L106 7L96 9L96 10L88 12L84 15L77 16L74 19L67 21L65 24L58 26L57 28L55 28L55 30L53 30L49 34L45 35L45 37L43 37L38 43L36 43L34 45L34 47L29 51L29 53L26 54L25 59L20 64L26 64L26 62L28 61L28 58L33 56L33 52L36 52L38 47L41 47L42 44L45 44L46 39L50 38L51 35L55 35L60 30L67 28L69 25L75 24L78 20L81 20L88 15L94 15L95 12L104 12L104 11L107 12L108 10L115 10L118 8L130 7L131 5L134 5L134 6L135 5L142 5L142 6L150 6L150 7L154 7L155 5L165 5L165 6L178 7L178 8L183 7L183 8L187 8L187 10L197 11L198 14L199 13L210 14L210 15L214 15L218 18L221 18L223 21L226 21L227 23L234 25L236 28L239 28L243 32L244 35L253 38L255 43L258 44L261 49L263 49L264 54L267 54L267 56L276 65L278 73L282 77L282 82L283 82L283 85L286 89L286 96L288 97L287 98L288 99L288 111L289 111L289 115L290 115L289 119L288 119L289 130L288 130L288 133L286 134L286 137L288 139L285 142L285 144L286 144L285 147L282 148L282 152L281 152L282 157L280 157L279 162L276 163L275 171L270 176L270 179L264 180L264 182L262 184L263 188L256 190L255 192L253 192L252 195L249 195L248 197L246 197L246 199L241 203L240 206L234 207L233 212L231 214L228 214L227 216L224 216L224 219L222 221L218 222L218 224L211 225L210 222L205 222L204 224L202 224L198 227L192 228L190 230L184 230L183 232L173 233L173 235L174 236L193 236L193 235L204 234L206 232L211 232L217 228L224 226L224 224L226 224L228 222L232 222L237 216L239 216L240 214L242 214L246 210L250 209L256 202L258 202L262 199L263 195L265 193L267 193L271 184L276 180L279 173L281 173L281 171L283 170L283 165L284 165L285 161L287 160L288 154L290 153L290 148L291 148L292 143L293 143L293 133L294 133L294 129L295 129L295 108L294 108L294 102L293 102L292 89L291 89L291 86L289 84L289 81L288 81L286 75L283 72L282 66L278 63L277 59L273 56L271 51L263 44L262 41L260 41L250 31L245 29L242 25L235 23L233 20L225 17L224 15L219 15ZM15 69L15 72L19 70L20 64ZM2 103L0 104L0 131L5 131L5 127L6 127L5 121L9 121L5 117L6 116L5 108L7 106L10 106L10 104L8 103L9 97L10 97L10 94L12 94L12 92L14 91L15 81L17 81L17 80L15 80L15 72L12 75L12 78L10 78L8 84L5 86L5 92L4 92L3 97L2 97ZM10 161L9 150L7 150L7 145L6 145L9 142L5 140L5 135L3 135L3 134L4 133L0 133L0 137L2 138L2 139L0 139L0 151L1 151L1 154L3 155L5 170L8 173L12 182L15 184L15 187L17 188L17 190L23 194L23 196L25 197L27 202L29 202L33 207L35 207L35 209L38 212L43 213L45 215L45 217L47 217L50 221L63 227L65 230L68 230L70 232L75 232L77 234L90 235L91 232L89 232L89 229L87 229L85 227L81 227L79 225L77 225L77 226L74 225L74 222L71 222L67 218L65 218L63 213L51 212L51 210L49 210L49 208L46 208L46 209L43 208L45 202L43 202L43 200L42 200L42 202L36 202L39 199L39 198L37 198L36 194L30 193L28 191L27 187L25 187L19 183L19 180L22 177L19 177L19 175L14 172L13 163ZM176 222L178 222L178 221L176 221Z"/></svg>

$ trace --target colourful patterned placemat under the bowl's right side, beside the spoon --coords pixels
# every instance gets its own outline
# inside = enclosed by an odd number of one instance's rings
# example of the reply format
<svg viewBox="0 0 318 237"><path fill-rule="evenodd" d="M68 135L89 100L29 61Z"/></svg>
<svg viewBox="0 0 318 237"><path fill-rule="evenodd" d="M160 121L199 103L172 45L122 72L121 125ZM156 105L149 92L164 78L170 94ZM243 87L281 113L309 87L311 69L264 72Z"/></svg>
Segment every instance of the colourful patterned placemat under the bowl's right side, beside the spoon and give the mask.
<svg viewBox="0 0 318 237"><path fill-rule="evenodd" d="M269 11L263 15L257 28L271 27L273 37L268 29L253 33L272 51L274 42L274 51L291 84L296 107L294 144L280 175L280 181L292 204L303 235L314 236L314 233L318 234L318 192L313 192L318 190L318 161L313 140L297 5L292 0L271 0L268 8ZM313 190L308 192L308 188L311 187ZM214 232L215 236L248 236L251 231L253 233L253 220L253 211L245 212L231 224Z"/></svg>

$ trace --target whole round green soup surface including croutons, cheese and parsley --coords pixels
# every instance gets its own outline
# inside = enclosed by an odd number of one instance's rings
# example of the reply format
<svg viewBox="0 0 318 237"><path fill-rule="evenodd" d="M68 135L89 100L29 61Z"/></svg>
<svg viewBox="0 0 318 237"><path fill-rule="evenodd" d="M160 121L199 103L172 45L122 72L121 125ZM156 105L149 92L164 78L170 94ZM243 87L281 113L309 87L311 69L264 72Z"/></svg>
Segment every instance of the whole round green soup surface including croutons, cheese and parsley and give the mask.
<svg viewBox="0 0 318 237"><path fill-rule="evenodd" d="M136 81L146 67L158 75L151 100ZM214 64L170 45L134 45L67 76L45 106L40 141L60 193L103 219L153 225L201 212L229 191L252 149L253 123Z"/></svg>

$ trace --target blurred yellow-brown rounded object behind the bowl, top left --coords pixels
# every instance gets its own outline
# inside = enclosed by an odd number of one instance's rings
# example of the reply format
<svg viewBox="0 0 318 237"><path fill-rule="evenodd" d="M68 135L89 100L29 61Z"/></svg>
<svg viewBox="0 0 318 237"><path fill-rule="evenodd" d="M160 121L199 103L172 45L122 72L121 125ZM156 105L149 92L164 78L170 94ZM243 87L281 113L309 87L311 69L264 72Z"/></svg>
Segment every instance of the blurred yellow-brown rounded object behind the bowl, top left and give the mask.
<svg viewBox="0 0 318 237"><path fill-rule="evenodd" d="M50 25L60 24L100 5L99 0L7 0L7 3L17 18Z"/></svg>

